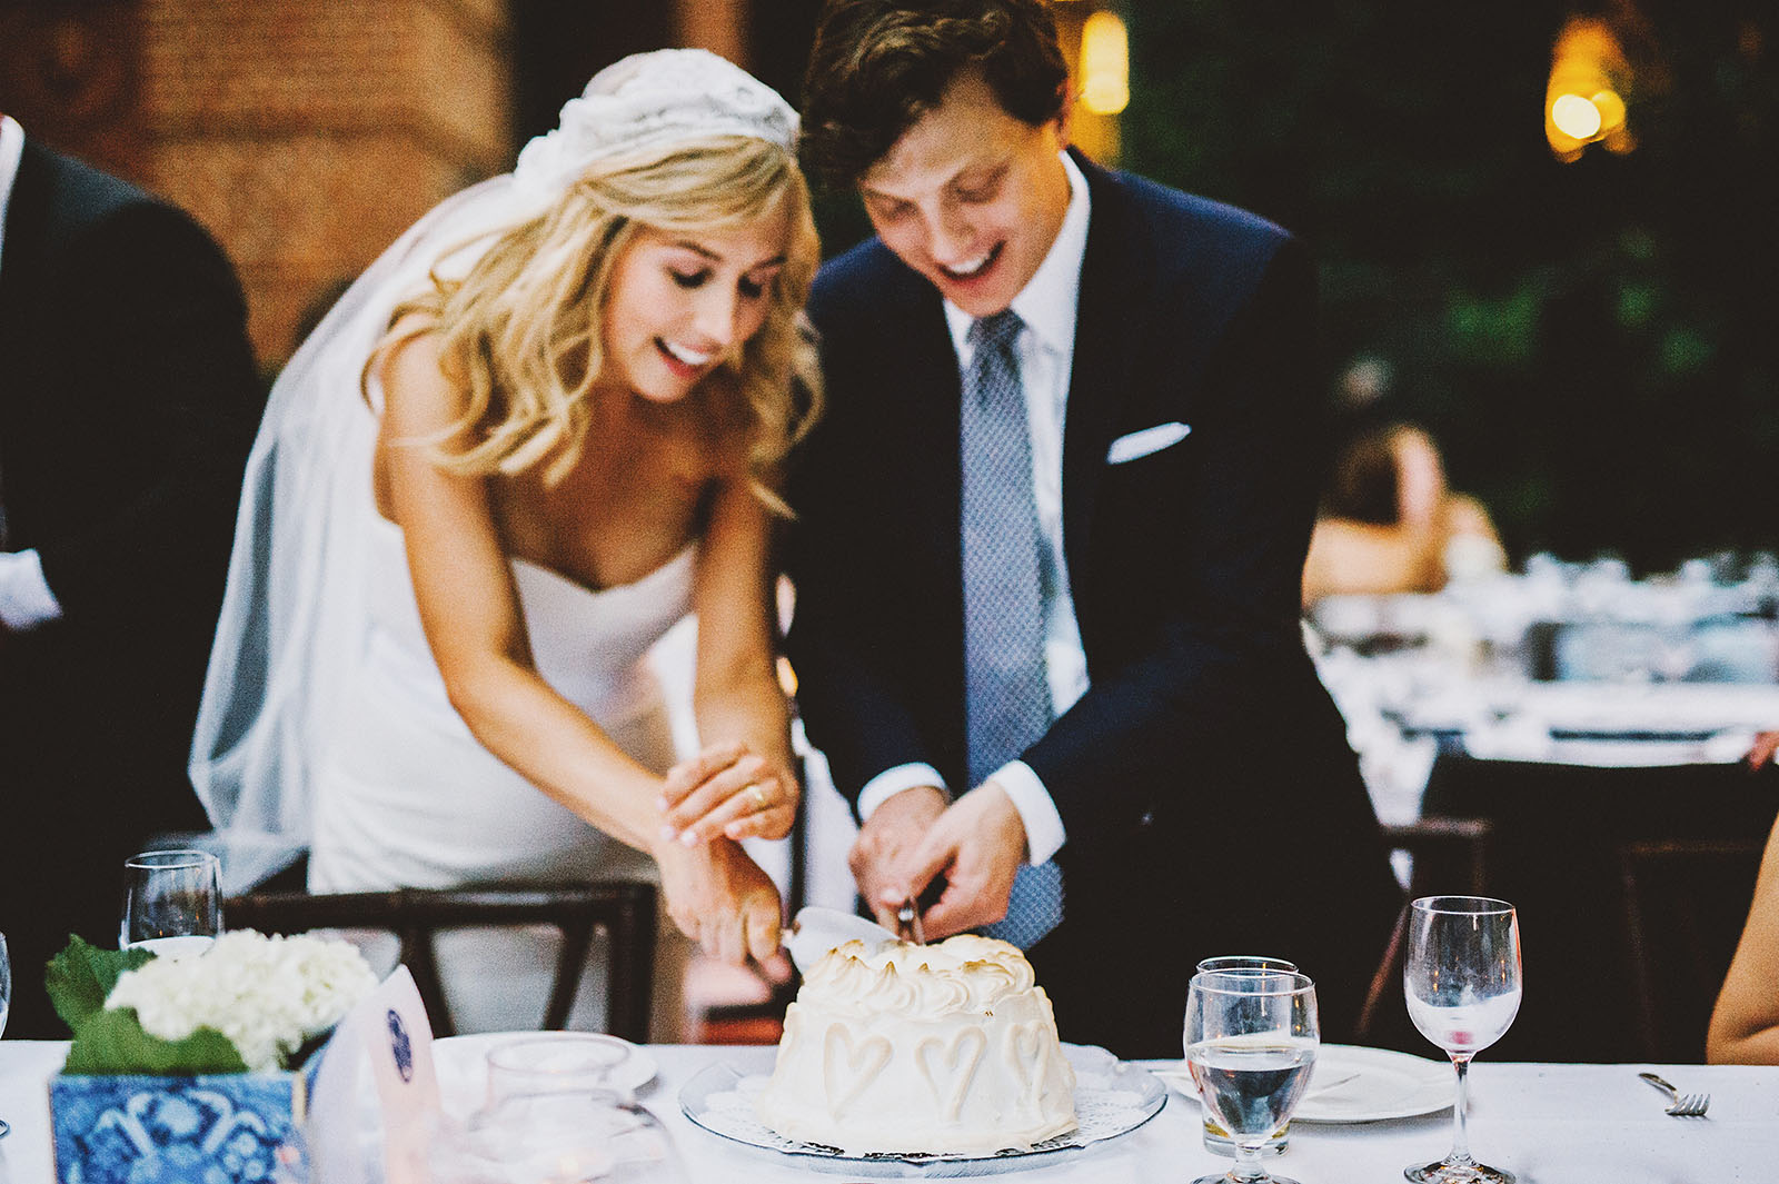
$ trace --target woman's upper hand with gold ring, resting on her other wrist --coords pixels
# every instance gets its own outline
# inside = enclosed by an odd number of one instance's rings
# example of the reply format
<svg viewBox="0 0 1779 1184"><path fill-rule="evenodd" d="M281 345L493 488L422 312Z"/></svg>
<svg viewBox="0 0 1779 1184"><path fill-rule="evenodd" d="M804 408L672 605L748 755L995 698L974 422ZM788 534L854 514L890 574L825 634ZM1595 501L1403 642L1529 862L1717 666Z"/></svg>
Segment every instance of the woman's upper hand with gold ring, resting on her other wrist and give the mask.
<svg viewBox="0 0 1779 1184"><path fill-rule="evenodd" d="M662 841L694 846L719 836L783 839L801 796L790 770L776 768L745 743L712 745L667 770Z"/></svg>

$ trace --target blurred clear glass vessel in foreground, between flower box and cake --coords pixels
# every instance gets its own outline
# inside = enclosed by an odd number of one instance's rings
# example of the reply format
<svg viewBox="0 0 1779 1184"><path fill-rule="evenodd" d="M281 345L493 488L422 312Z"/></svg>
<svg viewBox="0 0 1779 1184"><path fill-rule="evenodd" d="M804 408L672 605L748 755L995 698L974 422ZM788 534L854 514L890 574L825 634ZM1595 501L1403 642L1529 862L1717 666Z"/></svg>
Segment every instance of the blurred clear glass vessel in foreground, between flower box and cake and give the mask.
<svg viewBox="0 0 1779 1184"><path fill-rule="evenodd" d="M687 1184L662 1122L619 1084L616 1036L553 1033L487 1054L487 1104L432 1148L439 1184Z"/></svg>

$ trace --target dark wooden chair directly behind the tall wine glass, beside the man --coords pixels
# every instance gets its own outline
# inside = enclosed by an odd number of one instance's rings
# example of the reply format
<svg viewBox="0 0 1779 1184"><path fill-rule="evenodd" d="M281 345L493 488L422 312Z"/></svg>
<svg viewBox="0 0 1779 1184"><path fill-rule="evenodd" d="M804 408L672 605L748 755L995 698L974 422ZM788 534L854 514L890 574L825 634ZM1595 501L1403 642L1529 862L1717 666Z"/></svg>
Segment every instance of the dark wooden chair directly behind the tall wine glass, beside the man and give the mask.
<svg viewBox="0 0 1779 1184"><path fill-rule="evenodd" d="M1429 816L1407 825L1382 827L1391 852L1405 852L1411 860L1409 887L1402 910L1389 932L1384 956L1372 974L1359 1008L1356 1040L1416 1049L1407 1026L1402 996L1402 960L1409 942L1409 903L1421 896L1487 896L1489 837L1493 827L1484 818ZM1420 1051L1420 1049L1416 1049Z"/></svg>

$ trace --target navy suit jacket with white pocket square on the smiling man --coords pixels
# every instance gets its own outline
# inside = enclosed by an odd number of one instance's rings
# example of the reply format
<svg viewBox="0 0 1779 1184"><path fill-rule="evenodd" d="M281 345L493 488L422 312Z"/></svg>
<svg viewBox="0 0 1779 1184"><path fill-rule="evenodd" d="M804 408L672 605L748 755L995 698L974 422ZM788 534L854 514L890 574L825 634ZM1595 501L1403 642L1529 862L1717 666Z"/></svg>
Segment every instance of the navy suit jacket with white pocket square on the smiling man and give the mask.
<svg viewBox="0 0 1779 1184"><path fill-rule="evenodd" d="M1316 878L1348 880L1363 916L1348 937L1364 949L1343 962L1334 994L1356 1012L1347 988L1363 983L1347 980L1375 964L1397 896L1299 624L1325 444L1313 268L1297 240L1251 213L1076 162L1092 219L1062 496L1091 690L1023 754L1067 828L1069 919L1034 962L1060 1022L1078 967L1046 969L1044 955L1067 946L1067 930L1140 935L1131 912L1176 924L1179 871L1242 871L1235 844L1201 841L1192 857L1185 844L1263 828L1276 887L1195 916L1188 953L1252 953L1272 939L1297 944L1263 953L1297 949L1308 967L1316 933L1293 912L1299 894ZM849 796L911 761L959 793L959 372L941 300L870 240L822 268L809 313L829 411L792 482L801 711ZM1167 423L1190 432L1108 462L1115 439ZM1185 980L1163 990L1151 1035L1115 1051L1139 1054L1167 1031L1171 1051L1142 1054L1178 1056ZM1066 1040L1091 1035L1064 1028Z"/></svg>

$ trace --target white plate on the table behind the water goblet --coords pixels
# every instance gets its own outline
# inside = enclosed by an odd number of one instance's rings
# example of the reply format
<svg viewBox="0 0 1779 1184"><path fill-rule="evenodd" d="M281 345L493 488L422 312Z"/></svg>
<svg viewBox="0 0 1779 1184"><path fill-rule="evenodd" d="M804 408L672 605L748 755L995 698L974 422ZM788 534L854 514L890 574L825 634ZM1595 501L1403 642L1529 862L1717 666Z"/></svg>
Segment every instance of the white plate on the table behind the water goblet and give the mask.
<svg viewBox="0 0 1779 1184"><path fill-rule="evenodd" d="M1199 1100L1183 1065L1178 1070L1160 1068L1155 1076L1178 1093ZM1356 1044L1324 1044L1316 1051L1309 1092L1297 1104L1292 1122L1413 1118L1446 1109L1455 1095L1457 1076L1450 1061Z"/></svg>

